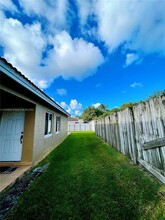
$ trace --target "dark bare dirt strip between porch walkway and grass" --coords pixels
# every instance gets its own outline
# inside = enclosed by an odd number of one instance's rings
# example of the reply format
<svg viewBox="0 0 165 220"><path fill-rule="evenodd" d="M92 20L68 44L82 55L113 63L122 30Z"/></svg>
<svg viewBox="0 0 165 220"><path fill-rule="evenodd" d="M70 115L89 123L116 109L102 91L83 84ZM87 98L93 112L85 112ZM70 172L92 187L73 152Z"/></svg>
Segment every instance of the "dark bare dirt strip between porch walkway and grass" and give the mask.
<svg viewBox="0 0 165 220"><path fill-rule="evenodd" d="M8 211L16 204L19 196L31 185L35 178L39 177L49 164L28 171L21 179L18 179L5 193L0 196L0 220L3 220Z"/></svg>

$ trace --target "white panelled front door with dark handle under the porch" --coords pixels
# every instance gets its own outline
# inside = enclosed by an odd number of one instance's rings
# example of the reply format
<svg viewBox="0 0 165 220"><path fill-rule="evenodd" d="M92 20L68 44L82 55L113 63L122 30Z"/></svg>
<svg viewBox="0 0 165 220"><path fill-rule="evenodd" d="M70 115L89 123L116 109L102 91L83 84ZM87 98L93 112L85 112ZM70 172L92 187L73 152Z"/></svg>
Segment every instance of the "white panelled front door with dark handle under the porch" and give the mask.
<svg viewBox="0 0 165 220"><path fill-rule="evenodd" d="M21 161L23 128L24 112L2 113L0 120L0 161Z"/></svg>

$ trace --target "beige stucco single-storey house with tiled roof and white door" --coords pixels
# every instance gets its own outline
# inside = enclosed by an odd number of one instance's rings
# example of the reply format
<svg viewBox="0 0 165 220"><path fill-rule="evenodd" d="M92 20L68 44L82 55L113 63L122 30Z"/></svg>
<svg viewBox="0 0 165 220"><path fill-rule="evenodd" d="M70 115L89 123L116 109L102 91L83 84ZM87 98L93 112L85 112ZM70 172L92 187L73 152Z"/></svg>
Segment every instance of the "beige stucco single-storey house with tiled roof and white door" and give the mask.
<svg viewBox="0 0 165 220"><path fill-rule="evenodd" d="M0 58L0 166L38 163L67 137L68 116Z"/></svg>

